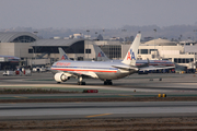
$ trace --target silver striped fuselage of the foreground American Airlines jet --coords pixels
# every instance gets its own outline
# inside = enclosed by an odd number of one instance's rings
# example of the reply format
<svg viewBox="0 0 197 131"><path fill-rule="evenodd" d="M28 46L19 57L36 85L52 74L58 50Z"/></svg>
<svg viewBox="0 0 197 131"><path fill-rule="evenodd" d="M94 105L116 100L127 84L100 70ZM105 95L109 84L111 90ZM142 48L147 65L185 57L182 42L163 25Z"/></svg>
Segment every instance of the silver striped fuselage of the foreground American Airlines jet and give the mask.
<svg viewBox="0 0 197 131"><path fill-rule="evenodd" d="M92 75L90 78L100 80L117 80L125 78L129 74L136 73L136 70L123 70L114 68L113 66L125 66L121 62L112 61L71 61L61 60L53 64L51 71L54 73L58 71L67 73L81 73Z"/></svg>

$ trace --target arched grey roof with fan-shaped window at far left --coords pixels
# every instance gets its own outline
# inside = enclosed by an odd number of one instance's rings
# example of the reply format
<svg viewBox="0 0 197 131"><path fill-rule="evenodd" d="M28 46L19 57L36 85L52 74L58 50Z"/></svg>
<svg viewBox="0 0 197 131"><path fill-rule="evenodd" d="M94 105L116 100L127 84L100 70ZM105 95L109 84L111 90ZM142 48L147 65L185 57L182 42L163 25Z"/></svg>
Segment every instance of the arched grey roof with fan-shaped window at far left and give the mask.
<svg viewBox="0 0 197 131"><path fill-rule="evenodd" d="M38 37L28 32L0 32L0 43L32 43Z"/></svg>

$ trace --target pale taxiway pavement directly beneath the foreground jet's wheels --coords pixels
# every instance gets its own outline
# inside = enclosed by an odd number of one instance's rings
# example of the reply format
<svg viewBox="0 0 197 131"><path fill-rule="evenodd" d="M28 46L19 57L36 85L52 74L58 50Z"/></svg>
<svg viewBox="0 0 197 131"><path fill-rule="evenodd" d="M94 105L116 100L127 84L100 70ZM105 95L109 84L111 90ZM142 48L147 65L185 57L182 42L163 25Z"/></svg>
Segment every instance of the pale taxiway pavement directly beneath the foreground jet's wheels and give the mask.
<svg viewBox="0 0 197 131"><path fill-rule="evenodd" d="M132 74L128 78L114 80L113 85L103 85L103 81L85 79L86 85L77 85L78 80L71 79L65 83L57 84L53 73L32 73L32 76L0 76L0 87L44 87L44 88L97 88L100 91L114 92L197 92L196 74ZM162 81L160 81L162 79ZM150 81L152 80L152 81Z"/></svg>

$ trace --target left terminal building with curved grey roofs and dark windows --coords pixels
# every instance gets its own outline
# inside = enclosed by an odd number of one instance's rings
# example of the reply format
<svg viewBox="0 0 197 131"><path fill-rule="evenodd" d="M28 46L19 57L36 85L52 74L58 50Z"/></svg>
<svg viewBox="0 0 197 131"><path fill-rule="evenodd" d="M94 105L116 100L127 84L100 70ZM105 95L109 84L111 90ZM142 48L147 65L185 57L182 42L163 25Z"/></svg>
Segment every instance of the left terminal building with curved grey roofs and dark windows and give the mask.
<svg viewBox="0 0 197 131"><path fill-rule="evenodd" d="M95 58L91 40L40 39L28 32L0 33L0 56L19 57L21 58L19 64L24 67L47 66L59 60L58 47L61 47L73 60Z"/></svg>

